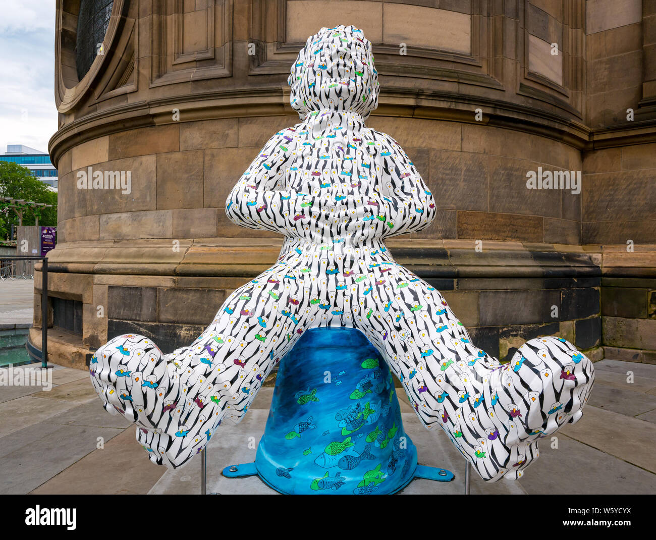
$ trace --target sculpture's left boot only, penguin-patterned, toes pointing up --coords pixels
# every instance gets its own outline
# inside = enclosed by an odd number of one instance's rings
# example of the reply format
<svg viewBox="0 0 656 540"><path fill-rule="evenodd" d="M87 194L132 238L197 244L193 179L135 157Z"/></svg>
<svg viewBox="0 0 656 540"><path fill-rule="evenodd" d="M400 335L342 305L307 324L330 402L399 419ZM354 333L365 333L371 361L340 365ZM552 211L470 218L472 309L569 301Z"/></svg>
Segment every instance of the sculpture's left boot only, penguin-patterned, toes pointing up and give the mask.
<svg viewBox="0 0 656 540"><path fill-rule="evenodd" d="M208 356L212 346L203 343ZM100 347L91 359L91 380L105 409L136 424L136 439L158 465L180 467L205 447L214 427L202 426L201 405L218 404L217 396L229 393L208 395L213 385L205 384L204 371L194 373L184 362L193 350L192 345L164 356L152 340L128 334ZM223 407L213 409L223 413Z"/></svg>

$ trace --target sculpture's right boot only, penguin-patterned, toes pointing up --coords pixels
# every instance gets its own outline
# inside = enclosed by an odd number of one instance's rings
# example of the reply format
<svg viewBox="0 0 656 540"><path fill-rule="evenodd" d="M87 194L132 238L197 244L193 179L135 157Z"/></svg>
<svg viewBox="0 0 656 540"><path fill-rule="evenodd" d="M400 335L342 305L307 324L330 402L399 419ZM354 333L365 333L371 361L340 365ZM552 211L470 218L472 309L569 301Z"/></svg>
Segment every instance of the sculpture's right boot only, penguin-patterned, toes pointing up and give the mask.
<svg viewBox="0 0 656 540"><path fill-rule="evenodd" d="M520 478L540 438L581 418L594 368L565 339L542 337L506 364L472 355L450 363L436 383L440 425L483 479L495 481Z"/></svg>

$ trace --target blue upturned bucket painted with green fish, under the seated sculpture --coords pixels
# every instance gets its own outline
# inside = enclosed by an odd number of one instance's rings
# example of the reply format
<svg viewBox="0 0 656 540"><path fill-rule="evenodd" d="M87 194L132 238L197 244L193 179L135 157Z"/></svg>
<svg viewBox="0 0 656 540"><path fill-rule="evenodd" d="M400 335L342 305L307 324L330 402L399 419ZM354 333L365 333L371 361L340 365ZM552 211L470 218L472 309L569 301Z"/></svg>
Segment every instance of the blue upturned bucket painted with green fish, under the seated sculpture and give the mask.
<svg viewBox="0 0 656 540"><path fill-rule="evenodd" d="M363 333L314 328L281 360L255 466L290 494L386 494L413 479L417 448L390 370Z"/></svg>

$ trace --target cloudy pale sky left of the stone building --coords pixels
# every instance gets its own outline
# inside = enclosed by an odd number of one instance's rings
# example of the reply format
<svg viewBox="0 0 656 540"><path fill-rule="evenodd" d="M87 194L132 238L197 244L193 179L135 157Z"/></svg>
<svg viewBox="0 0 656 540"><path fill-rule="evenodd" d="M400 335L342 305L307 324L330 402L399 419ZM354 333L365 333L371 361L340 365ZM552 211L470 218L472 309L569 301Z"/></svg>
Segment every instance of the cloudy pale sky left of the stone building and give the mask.
<svg viewBox="0 0 656 540"><path fill-rule="evenodd" d="M54 104L54 0L2 0L0 154L7 144L48 152Z"/></svg>

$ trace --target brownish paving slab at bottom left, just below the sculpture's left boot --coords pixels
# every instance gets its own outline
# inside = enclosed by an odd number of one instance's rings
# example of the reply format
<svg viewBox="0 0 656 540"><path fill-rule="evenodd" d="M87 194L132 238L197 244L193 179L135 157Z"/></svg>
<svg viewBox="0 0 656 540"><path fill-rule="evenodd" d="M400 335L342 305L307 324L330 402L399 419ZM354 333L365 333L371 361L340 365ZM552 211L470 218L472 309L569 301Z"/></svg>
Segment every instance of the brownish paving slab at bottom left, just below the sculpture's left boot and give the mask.
<svg viewBox="0 0 656 540"><path fill-rule="evenodd" d="M196 461L200 467L200 460ZM104 448L88 453L31 493L145 494L166 470L148 460L136 441L136 428L130 426L111 440L106 439Z"/></svg>

